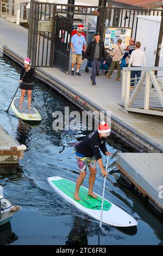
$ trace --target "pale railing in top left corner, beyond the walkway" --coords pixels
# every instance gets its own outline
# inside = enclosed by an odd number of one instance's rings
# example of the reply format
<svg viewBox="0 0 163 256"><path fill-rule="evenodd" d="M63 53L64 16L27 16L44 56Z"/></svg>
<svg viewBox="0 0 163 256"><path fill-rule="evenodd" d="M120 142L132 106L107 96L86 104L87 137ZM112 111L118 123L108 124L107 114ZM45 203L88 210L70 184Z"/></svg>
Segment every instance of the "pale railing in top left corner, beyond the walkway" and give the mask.
<svg viewBox="0 0 163 256"><path fill-rule="evenodd" d="M4 3L1 1L0 15L10 22L28 22L29 9L22 3Z"/></svg>

